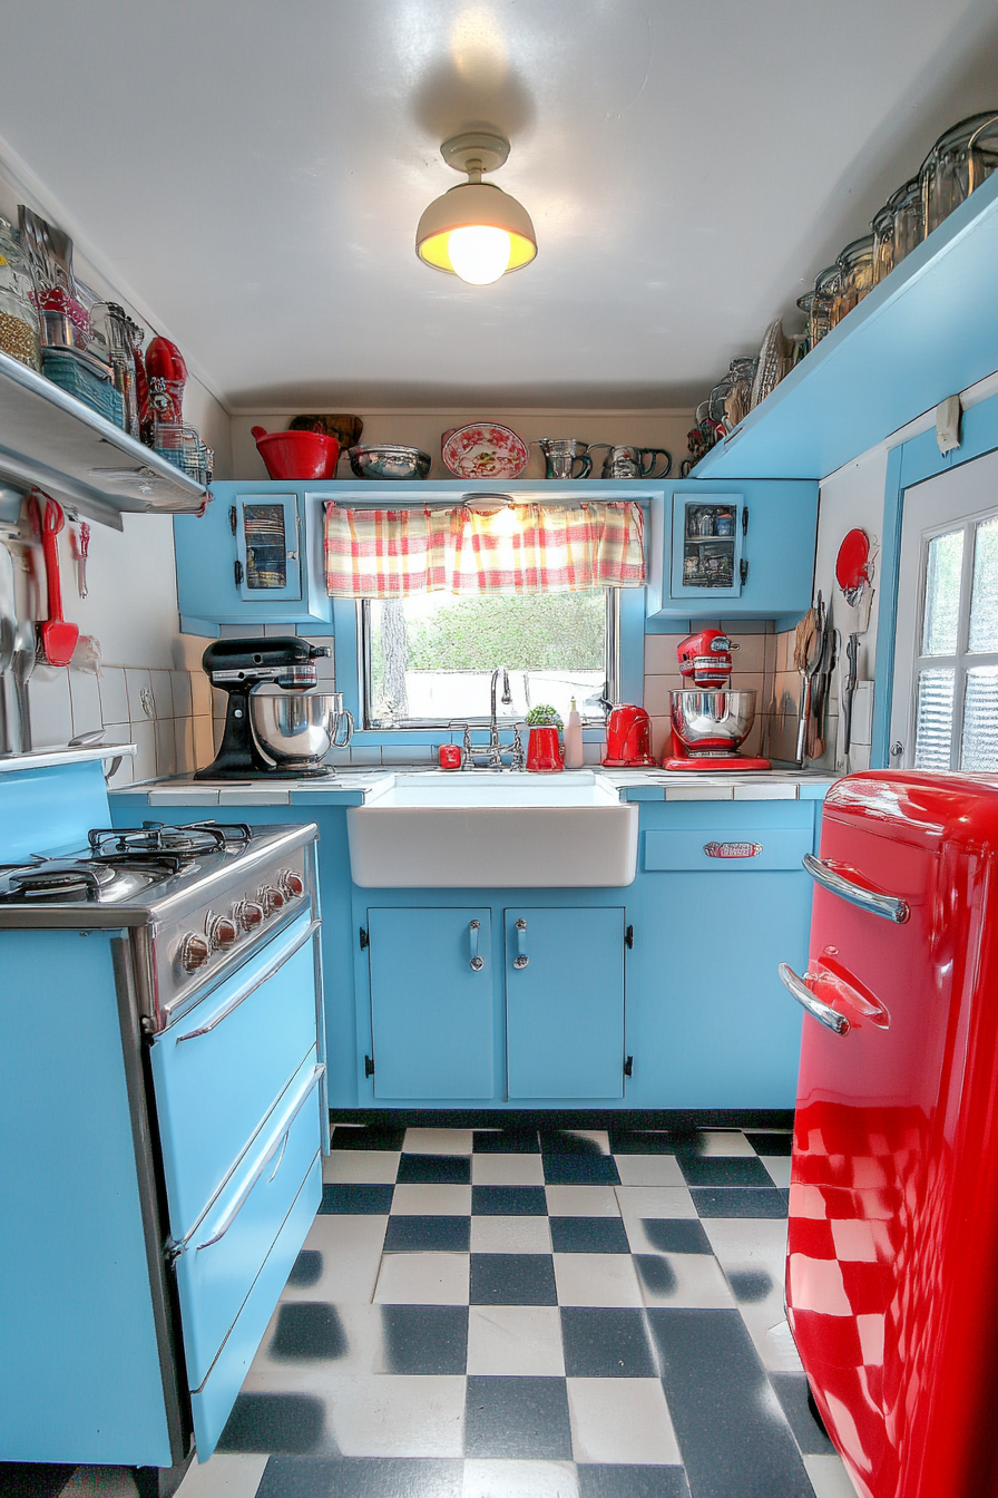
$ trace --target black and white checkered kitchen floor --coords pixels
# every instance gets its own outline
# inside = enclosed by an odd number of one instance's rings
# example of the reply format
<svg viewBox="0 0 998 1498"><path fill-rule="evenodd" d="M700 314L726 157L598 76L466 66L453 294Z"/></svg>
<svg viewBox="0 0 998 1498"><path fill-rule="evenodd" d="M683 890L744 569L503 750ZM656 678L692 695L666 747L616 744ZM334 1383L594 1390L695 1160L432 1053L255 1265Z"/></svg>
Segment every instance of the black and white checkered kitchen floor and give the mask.
<svg viewBox="0 0 998 1498"><path fill-rule="evenodd" d="M778 1131L338 1125L181 1498L847 1498L784 1320L789 1156Z"/></svg>

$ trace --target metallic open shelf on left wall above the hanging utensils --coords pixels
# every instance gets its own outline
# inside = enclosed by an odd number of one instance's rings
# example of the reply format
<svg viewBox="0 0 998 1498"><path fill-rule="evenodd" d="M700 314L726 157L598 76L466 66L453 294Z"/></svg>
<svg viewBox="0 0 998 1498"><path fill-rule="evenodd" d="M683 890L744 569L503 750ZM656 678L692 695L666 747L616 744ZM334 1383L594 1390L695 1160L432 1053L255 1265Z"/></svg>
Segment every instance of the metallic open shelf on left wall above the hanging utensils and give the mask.
<svg viewBox="0 0 998 1498"><path fill-rule="evenodd" d="M202 484L0 352L0 479L37 484L72 511L121 530L123 512L190 514Z"/></svg>

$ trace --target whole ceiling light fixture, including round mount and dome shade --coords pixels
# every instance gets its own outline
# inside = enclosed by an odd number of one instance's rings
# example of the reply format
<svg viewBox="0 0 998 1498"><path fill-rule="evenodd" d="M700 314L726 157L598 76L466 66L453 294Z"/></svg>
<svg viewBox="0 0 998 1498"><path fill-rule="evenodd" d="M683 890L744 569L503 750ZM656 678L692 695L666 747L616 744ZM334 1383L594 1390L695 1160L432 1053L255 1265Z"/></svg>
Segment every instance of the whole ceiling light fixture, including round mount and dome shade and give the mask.
<svg viewBox="0 0 998 1498"><path fill-rule="evenodd" d="M434 270L488 286L537 255L537 237L522 204L482 181L509 156L501 135L455 135L440 147L447 166L467 172L467 183L435 198L416 229L416 255Z"/></svg>

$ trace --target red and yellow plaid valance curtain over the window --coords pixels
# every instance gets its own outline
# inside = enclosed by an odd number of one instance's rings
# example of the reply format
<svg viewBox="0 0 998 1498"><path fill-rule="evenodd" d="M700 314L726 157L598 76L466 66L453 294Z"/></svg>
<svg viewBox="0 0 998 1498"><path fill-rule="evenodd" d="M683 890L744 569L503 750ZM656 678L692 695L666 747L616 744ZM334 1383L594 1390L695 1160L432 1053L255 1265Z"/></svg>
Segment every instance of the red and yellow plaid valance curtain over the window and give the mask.
<svg viewBox="0 0 998 1498"><path fill-rule="evenodd" d="M495 511L326 505L326 589L332 598L575 593L643 584L645 518L639 503Z"/></svg>

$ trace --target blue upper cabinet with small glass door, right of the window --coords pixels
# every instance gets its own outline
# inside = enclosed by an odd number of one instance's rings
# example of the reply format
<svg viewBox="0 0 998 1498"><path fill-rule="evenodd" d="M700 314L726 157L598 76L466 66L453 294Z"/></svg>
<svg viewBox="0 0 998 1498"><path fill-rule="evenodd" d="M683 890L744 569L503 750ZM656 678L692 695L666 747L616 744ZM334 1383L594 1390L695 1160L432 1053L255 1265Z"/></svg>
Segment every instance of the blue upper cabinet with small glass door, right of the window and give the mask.
<svg viewBox="0 0 998 1498"><path fill-rule="evenodd" d="M648 617L796 622L811 602L818 487L679 479L651 502Z"/></svg>

